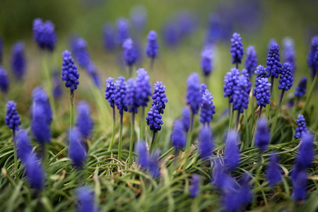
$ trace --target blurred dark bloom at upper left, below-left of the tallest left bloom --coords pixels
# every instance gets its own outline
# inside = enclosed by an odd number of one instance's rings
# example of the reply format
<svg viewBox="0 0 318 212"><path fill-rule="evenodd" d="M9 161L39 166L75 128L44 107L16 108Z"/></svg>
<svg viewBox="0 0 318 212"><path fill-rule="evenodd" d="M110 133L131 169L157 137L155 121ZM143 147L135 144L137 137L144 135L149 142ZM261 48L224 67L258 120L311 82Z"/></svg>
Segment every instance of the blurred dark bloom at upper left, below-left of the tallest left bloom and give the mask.
<svg viewBox="0 0 318 212"><path fill-rule="evenodd" d="M25 46L23 42L16 42L12 47L11 51L11 69L13 71L13 75L21 80L23 76L25 76Z"/></svg>

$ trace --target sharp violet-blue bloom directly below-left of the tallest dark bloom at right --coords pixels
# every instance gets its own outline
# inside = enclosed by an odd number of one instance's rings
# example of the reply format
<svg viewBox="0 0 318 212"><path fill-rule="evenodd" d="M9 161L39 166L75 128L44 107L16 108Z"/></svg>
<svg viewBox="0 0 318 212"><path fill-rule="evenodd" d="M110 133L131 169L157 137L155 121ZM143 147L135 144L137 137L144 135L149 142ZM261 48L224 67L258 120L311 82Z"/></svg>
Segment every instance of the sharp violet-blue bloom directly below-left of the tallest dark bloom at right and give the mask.
<svg viewBox="0 0 318 212"><path fill-rule="evenodd" d="M259 86L257 86L255 90L255 99L257 100L257 106L266 107L271 103L269 98L271 97L271 93L269 92L269 87L271 83L269 83L268 78L260 78L259 79Z"/></svg>

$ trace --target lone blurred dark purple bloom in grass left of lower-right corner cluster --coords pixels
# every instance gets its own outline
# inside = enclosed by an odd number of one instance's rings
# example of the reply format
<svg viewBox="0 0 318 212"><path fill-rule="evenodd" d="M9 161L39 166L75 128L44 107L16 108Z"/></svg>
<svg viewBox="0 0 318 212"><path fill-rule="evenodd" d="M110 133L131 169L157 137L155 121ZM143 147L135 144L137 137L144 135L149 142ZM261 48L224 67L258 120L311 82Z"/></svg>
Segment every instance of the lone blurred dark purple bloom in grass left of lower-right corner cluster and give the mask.
<svg viewBox="0 0 318 212"><path fill-rule="evenodd" d="M279 170L279 165L277 162L277 155L275 153L271 154L271 158L269 160L269 166L266 170L266 177L269 181L269 186L274 187L275 184L281 182L281 171Z"/></svg>

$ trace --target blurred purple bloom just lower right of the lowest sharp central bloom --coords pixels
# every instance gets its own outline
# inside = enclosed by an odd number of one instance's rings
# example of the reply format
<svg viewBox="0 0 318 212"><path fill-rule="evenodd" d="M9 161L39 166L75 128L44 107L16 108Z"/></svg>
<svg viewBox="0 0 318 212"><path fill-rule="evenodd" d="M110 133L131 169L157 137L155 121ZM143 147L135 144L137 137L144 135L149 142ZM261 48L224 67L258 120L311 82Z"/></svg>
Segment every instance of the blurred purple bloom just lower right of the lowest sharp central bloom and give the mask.
<svg viewBox="0 0 318 212"><path fill-rule="evenodd" d="M175 148L184 148L187 137L184 133L184 126L181 120L175 120L173 123L171 142Z"/></svg>

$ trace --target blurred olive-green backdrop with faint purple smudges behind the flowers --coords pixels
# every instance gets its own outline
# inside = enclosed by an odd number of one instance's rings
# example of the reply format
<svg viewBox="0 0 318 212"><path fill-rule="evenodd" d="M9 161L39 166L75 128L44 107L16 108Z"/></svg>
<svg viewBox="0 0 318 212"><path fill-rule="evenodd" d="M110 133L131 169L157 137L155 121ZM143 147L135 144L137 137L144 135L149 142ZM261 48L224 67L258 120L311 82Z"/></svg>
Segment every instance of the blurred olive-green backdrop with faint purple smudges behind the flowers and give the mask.
<svg viewBox="0 0 318 212"><path fill-rule="evenodd" d="M114 78L120 75L128 76L127 69L119 57L122 48L116 43L117 22L119 18L126 18L129 21L129 33L136 47L139 48L139 61L134 71L141 67L148 70L150 60L145 53L146 36L149 30L158 33L159 57L151 73L151 83L163 81L167 86L169 102L163 121L169 129L184 106L187 77L192 72L198 72L203 76L200 68L201 51L208 42L213 42L213 72L209 90L214 96L213 102L218 117L228 105L228 99L223 98L223 77L230 68L234 67L230 57L232 33L240 33L245 49L249 45L254 45L259 64L264 66L271 40L276 40L281 47L285 37L292 38L295 42L297 66L294 87L289 92L293 93L302 76L310 78L306 58L311 38L318 35L317 8L318 1L314 0L1 0L0 37L4 45L4 68L8 71L8 75L12 75L10 55L15 42L25 42L27 57L25 81L17 83L13 80L9 98L17 102L26 102L23 105L18 104L18 110L25 111L27 116L31 101L30 93L35 86L42 85L41 52L33 41L35 18L51 20L55 25L58 40L57 47L52 52L54 57L50 61L52 71L61 70L61 53L64 49L69 49L71 35L86 40L90 58L100 73L102 85L99 89L103 95L105 79L108 76ZM114 36L114 47L105 43L103 33L105 25L110 31L113 30L113 34L110 35ZM244 66L245 58L246 55L240 64L240 69ZM87 89L88 76L81 69L80 73L80 86L76 91L76 98L88 100L95 108L90 90ZM276 83L275 86L277 85ZM63 90L64 93L67 92L64 86ZM68 102L69 96L64 95L58 103L64 105L58 106L61 111L68 112ZM61 116L67 117L66 113L61 112Z"/></svg>

